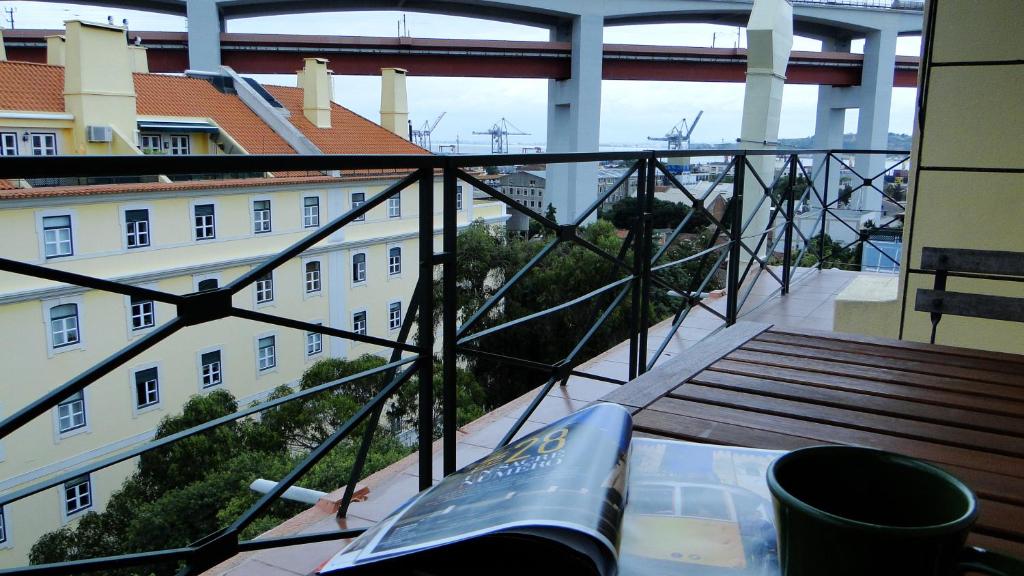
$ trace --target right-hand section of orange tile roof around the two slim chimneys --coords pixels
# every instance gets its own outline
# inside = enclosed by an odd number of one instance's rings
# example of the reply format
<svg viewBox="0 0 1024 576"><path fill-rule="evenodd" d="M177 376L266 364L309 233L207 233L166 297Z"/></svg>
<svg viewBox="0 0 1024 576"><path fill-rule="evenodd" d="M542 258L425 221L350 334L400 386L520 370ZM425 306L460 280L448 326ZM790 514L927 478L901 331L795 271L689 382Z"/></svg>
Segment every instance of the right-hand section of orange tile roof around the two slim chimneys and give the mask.
<svg viewBox="0 0 1024 576"><path fill-rule="evenodd" d="M343 106L331 102L331 127L317 128L302 114L302 89L264 85L292 113L289 120L324 154L430 154Z"/></svg>

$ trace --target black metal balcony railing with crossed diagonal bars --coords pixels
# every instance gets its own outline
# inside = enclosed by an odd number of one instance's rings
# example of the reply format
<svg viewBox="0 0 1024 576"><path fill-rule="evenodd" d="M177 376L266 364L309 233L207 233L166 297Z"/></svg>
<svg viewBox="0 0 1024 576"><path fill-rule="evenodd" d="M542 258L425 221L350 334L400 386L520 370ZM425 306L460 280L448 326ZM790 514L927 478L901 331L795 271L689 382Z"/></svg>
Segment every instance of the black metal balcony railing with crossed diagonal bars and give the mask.
<svg viewBox="0 0 1024 576"><path fill-rule="evenodd" d="M62 177L124 177L146 176L153 174L195 174L195 173L262 173L297 171L310 173L345 174L348 171L376 170L396 178L379 194L367 200L358 207L352 208L330 222L312 232L302 240L289 246L242 275L233 282L212 291L195 292L184 295L168 293L160 290L141 288L121 282L101 278L93 278L80 274L63 272L47 266L36 265L0 257L0 271L26 275L39 279L65 283L83 288L137 296L165 302L176 307L176 316L157 327L147 335L132 341L122 349L111 355L105 360L91 366L70 380L54 386L34 402L19 408L16 412L0 422L0 440L26 425L47 411L50 411L62 400L83 390L103 376L111 374L131 359L144 351L157 346L172 334L183 328L198 326L220 319L233 317L263 322L275 326L316 332L324 335L343 338L353 342L366 342L383 346L391 351L387 364L359 374L322 385L303 389L296 394L265 401L251 407L239 410L233 414L211 420L171 436L142 443L136 447L123 450L115 455L93 461L74 469L57 474L30 486L0 495L0 505L22 500L43 490L59 486L62 483L90 474L118 462L135 458L143 453L168 446L182 439L206 433L218 426L225 425L241 418L258 415L266 410L289 402L295 402L312 395L336 389L344 384L358 381L372 376L386 375L388 383L380 389L372 400L361 406L346 422L340 425L317 448L312 450L284 479L260 497L249 509L234 520L230 525L210 534L193 544L164 550L126 553L118 557L82 560L61 564L29 566L0 571L0 574L68 574L110 570L132 566L154 565L157 563L179 563L184 568L182 574L202 572L216 564L242 551L263 548L289 546L295 544L350 538L359 534L360 530L340 530L322 534L310 534L282 538L257 538L242 540L240 534L261 512L276 501L285 491L299 482L303 475L312 468L328 452L340 442L348 439L357 427L368 422L362 433L360 449L357 453L351 477L348 479L344 499L339 515L343 516L351 501L354 487L361 479L370 442L375 427L381 419L385 404L396 390L414 376L418 376L419 414L418 414L418 452L420 488L431 484L431 445L433 442L432 407L434 390L432 388L433 366L435 362L435 343L439 343L440 364L442 371L441 388L441 439L443 447L442 468L445 475L456 468L456 369L460 356L473 356L482 361L503 363L507 365L526 367L538 371L542 376L540 390L534 397L526 409L520 414L514 425L505 434L500 445L507 444L525 423L541 400L556 385L565 384L572 376L582 376L601 381L625 383L623 380L610 378L602 374L590 374L580 369L587 358L583 352L597 331L608 321L611 314L623 307L628 310L629 336L629 377L653 367L665 352L669 340L679 330L690 311L705 308L720 318L726 324L736 322L740 311L748 303L751 288L762 275L767 275L778 283L782 294L790 291L798 282L795 277L799 264L804 261L809 250L818 251L816 265L830 265L828 254L824 249L822 238L815 247L813 239L822 235L826 227L842 222L854 233L845 248L858 245L869 245L871 239L863 231L849 224L842 218L833 218L841 211L843 198L850 198L858 192L869 192L883 196L886 193L883 183L887 168L877 174L857 173L846 157L857 155L897 156L897 164L906 162L907 155L903 152L882 151L800 151L780 154L777 151L689 151L685 153L691 158L723 157L728 159L727 168L718 174L710 188L699 196L683 184L674 175L663 158L679 156L679 151L651 151L630 153L594 153L594 154L530 154L521 156L209 156L209 157L56 157L56 158L2 158L0 159L0 178L62 178ZM752 165L752 160L758 157L770 156L781 162L781 169L773 169L772 173L759 174ZM815 169L809 170L802 157L815 156L819 161ZM821 162L821 160L825 160ZM596 163L616 161L626 163L622 177L610 189L595 198L585 211L570 221L554 221L545 217L539 211L517 203L511 197L503 194L493 186L482 181L467 171L469 167L503 166L514 164L547 164L549 169L555 164ZM839 190L829 191L826 182L838 180L834 170L849 170L851 177L856 177L856 189L847 190L841 194ZM397 176L395 176L397 174ZM437 176L441 178L441 206L434 206L434 186ZM595 245L581 235L581 229L592 219L602 204L623 186L635 178L637 188L637 211L628 234L617 252L609 252ZM465 182L484 195L509 208L527 215L532 221L543 227L548 234L544 236L543 248L518 273L509 277L504 284L484 301L474 314L465 317L460 323L458 307L458 286L456 269L459 261L456 258L459 241L459 222L457 218L456 194L459 182ZM671 189L681 193L691 204L692 209L686 218L669 233L662 246L655 246L652 225L652 206L658 182L667 182ZM707 203L714 199L728 183L732 184L731 194L724 213L716 215ZM803 182L803 183L802 183ZM664 184L663 184L664 186ZM286 261L302 254L305 250L321 241L328 239L344 227L360 220L372 209L384 205L387 200L406 189L416 190L419 198L419 275L411 305L406 314L399 333L395 339L372 336L339 327L312 324L299 320L283 318L271 314L246 310L236 306L231 296L254 283L260 277L281 266ZM549 192L550 194L550 192ZM898 205L898 200L890 198ZM741 209L745 205L748 209ZM751 230L757 218L750 216L751 206L758 206L767 211L767 225L764 229ZM440 236L442 248L434 251L435 208L441 215ZM808 214L816 215L814 224L809 231L801 230L798 221L798 209L803 211L806 219ZM744 213L749 216L744 218ZM700 237L703 242L697 250L681 259L666 261L669 247L676 242L684 229L693 218L706 219L710 224L707 234ZM532 314L517 318L497 326L479 329L474 332L481 320L488 318L509 296L510 291L521 279L530 273L538 264L549 256L557 247L563 244L573 245L609 262L616 271L613 278L607 279L604 285L596 290L566 301L538 310ZM215 249L211 245L210 249ZM781 251L779 252L779 246ZM884 251L883 251L884 252ZM666 272L677 266L697 263L698 274L692 276L686 286L675 285L666 278ZM898 262L895 262L898 264ZM434 282L435 268L440 269L440 299L435 299ZM806 269L802 269L806 270ZM812 274L807 271L804 274ZM725 276L726 306L725 312L710 306L703 301L709 287L716 279ZM672 329L660 341L650 341L647 329L652 324L651 298L655 290L673 291L680 296L677 310L672 315ZM551 314L556 314L584 303L597 306L599 311L592 316L592 323L586 328L583 336L575 342L571 351L556 362L544 362L536 358L515 358L482 349L478 344L495 333L509 330L517 326L528 325L532 320ZM439 313L439 314L435 314ZM435 331L434 318L440 317L439 334ZM410 341L413 328L417 328L415 342ZM9 326L6 328L10 328ZM435 339L439 336L439 342ZM651 351L648 353L648 351Z"/></svg>

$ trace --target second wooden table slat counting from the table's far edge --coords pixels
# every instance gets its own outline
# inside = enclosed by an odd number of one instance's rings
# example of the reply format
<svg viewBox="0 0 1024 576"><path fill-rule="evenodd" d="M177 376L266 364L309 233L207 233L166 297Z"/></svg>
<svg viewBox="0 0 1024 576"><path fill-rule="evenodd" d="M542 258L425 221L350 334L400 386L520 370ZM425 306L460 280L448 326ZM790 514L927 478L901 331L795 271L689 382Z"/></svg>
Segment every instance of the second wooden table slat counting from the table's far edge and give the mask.
<svg viewBox="0 0 1024 576"><path fill-rule="evenodd" d="M813 360L809 358L795 358L791 356L779 356L762 352L738 349L726 357L729 360L738 360L765 366L781 366L783 368L796 368L807 372L820 372L823 374L835 374L838 376L851 376L863 379L872 379L894 384L907 384L923 388L935 388L953 392L970 392L971 394L986 396L998 400L1013 400L1024 402L1024 388L1008 386L1004 384L992 384L988 382L975 382L959 378L949 378L945 376L933 376L927 374L915 374L913 372L900 372L889 368L872 368L870 366L853 366L842 362L830 362L828 360Z"/></svg>

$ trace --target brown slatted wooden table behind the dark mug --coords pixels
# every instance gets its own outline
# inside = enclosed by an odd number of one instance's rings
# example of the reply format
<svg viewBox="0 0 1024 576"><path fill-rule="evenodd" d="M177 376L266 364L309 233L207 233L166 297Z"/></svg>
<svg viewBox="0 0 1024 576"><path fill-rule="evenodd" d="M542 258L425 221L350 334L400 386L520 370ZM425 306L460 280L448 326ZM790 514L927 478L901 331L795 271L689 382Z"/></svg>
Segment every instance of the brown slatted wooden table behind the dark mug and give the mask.
<svg viewBox="0 0 1024 576"><path fill-rule="evenodd" d="M741 322L603 400L638 436L931 461L981 500L970 542L1024 558L1024 356Z"/></svg>

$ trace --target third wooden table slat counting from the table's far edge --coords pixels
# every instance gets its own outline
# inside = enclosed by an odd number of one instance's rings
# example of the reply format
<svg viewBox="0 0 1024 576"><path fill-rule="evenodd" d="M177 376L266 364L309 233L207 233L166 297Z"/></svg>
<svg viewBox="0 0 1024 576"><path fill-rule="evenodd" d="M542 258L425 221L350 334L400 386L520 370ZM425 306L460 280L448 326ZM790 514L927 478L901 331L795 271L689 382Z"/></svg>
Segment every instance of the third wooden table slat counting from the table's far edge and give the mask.
<svg viewBox="0 0 1024 576"><path fill-rule="evenodd" d="M874 396L873 394L863 394L860 390L847 392L846 389L837 389L834 387L798 384L766 377L759 378L730 372L719 372L716 371L716 367L717 365L713 365L709 370L697 374L690 379L690 383L745 390L767 397L798 400L835 408L854 407L859 411L872 414L1024 437L1024 418L1015 418L1001 414L987 414L985 417L979 418L978 412L963 408L886 398ZM683 385L689 385L689 383Z"/></svg>

